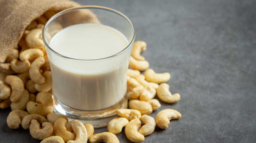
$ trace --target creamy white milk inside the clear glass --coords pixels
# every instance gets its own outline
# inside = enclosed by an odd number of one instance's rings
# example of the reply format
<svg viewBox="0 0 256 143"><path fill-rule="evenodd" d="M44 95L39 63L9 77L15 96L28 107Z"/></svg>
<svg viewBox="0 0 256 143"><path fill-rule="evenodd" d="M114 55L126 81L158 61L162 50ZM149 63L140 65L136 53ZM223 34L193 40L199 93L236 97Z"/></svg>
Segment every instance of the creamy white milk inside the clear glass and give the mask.
<svg viewBox="0 0 256 143"><path fill-rule="evenodd" d="M57 53L75 59L92 60L113 56L128 46L118 30L100 24L76 24L53 36L49 46ZM127 56L126 56L127 57ZM50 58L53 95L65 105L84 111L108 108L123 99L128 62L115 58L104 63L83 63ZM117 61L113 63L113 60ZM86 61L87 62L87 61ZM57 64L57 65L56 65ZM110 68L110 67L115 68ZM99 72L101 71L101 72Z"/></svg>

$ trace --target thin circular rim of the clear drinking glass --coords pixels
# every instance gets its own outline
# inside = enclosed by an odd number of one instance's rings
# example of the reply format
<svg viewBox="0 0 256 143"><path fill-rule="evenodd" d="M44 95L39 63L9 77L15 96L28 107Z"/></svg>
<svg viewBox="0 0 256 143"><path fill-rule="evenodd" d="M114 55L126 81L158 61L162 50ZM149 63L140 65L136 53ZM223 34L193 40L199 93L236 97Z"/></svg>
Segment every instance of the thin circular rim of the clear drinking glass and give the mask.
<svg viewBox="0 0 256 143"><path fill-rule="evenodd" d="M65 14L69 11L73 11L73 10L77 10L77 9L89 9L89 8L95 8L95 9L102 9L102 10L107 10L107 11L111 11L111 12L114 12L120 16L122 16L123 18L125 18L132 26L132 30L133 30L133 37L131 39L131 41L128 41L129 44L120 52L118 52L117 54L114 54L112 56L108 56L108 57L104 57L104 58L99 58L99 59L76 59L76 58L71 58L71 57L68 57L68 56L64 56L64 55L61 55L59 53L57 53L56 51L54 51L49 45L48 43L46 42L45 40L45 29L46 27L58 16L62 15L62 14ZM53 54L55 54L56 56L59 56L59 57L62 57L62 58L65 58L67 60L78 60L78 61L100 61L100 60L106 60L106 59L110 59L110 58L114 58L116 56L119 56L121 55L122 53L124 53L129 47L131 47L131 45L134 43L135 41L135 37L136 37L136 30L135 30L135 27L132 23L132 21L126 16L124 15L123 13L115 10L115 9L112 9L112 8L107 8L107 7L102 7L102 6L78 6L78 7L73 7L73 8L68 8L68 9L64 9L58 13L56 13L55 15L53 15L47 22L46 24L44 25L43 27L43 30L42 30L42 40L45 44L45 48L48 48L51 52L53 52Z"/></svg>

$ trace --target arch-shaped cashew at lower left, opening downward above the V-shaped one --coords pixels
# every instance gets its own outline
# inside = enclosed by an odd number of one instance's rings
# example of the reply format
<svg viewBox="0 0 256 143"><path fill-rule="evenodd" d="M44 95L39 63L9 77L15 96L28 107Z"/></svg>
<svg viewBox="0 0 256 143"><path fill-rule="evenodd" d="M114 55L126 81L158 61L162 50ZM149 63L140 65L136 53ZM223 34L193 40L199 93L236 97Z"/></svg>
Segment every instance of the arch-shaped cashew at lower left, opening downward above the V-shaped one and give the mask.
<svg viewBox="0 0 256 143"><path fill-rule="evenodd" d="M23 129L27 130L29 129L29 124L31 122L32 119L36 119L40 124L42 124L43 122L47 122L47 119L41 115L38 114L30 114L25 116L22 121L21 121L21 126Z"/></svg>

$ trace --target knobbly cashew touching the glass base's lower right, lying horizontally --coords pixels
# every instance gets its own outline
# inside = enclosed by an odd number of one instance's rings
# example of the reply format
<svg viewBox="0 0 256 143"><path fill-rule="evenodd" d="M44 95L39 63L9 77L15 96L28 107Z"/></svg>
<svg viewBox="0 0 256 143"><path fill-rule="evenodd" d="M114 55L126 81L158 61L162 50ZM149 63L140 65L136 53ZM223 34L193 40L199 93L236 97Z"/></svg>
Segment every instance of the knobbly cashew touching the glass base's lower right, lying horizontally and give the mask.
<svg viewBox="0 0 256 143"><path fill-rule="evenodd" d="M132 119L140 119L141 113L135 109L118 109L117 115L128 119L129 121Z"/></svg>

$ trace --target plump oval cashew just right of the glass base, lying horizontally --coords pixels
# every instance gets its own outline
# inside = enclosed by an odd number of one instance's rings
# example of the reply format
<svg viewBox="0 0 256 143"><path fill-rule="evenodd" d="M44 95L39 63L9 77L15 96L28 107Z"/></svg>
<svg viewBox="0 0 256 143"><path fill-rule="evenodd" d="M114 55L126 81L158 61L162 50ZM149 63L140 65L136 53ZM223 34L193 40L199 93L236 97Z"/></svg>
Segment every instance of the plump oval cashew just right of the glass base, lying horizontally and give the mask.
<svg viewBox="0 0 256 143"><path fill-rule="evenodd" d="M133 99L133 100L130 100L128 104L131 109L138 110L141 113L141 115L144 115L144 114L148 115L153 112L152 106L146 101L139 101L139 100Z"/></svg>

